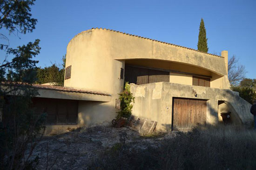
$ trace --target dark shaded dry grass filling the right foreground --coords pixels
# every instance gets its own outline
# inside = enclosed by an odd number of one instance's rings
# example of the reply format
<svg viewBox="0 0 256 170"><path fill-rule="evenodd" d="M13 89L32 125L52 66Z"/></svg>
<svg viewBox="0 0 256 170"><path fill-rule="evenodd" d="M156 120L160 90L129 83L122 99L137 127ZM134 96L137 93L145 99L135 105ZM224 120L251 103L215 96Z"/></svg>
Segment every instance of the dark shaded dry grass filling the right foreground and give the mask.
<svg viewBox="0 0 256 170"><path fill-rule="evenodd" d="M255 170L256 131L241 126L202 126L166 139L158 148L126 145L106 150L91 169Z"/></svg>

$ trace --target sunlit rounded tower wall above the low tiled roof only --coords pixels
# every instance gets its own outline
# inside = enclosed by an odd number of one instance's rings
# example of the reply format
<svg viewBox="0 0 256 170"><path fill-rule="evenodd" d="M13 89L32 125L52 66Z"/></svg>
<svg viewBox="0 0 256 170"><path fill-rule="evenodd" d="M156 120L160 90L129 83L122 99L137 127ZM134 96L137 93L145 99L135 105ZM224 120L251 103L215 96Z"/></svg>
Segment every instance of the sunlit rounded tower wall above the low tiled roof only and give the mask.
<svg viewBox="0 0 256 170"><path fill-rule="evenodd" d="M112 58L106 36L89 30L69 42L66 67L72 65L71 78L64 81L64 86L110 94L121 92L120 69L124 62Z"/></svg>

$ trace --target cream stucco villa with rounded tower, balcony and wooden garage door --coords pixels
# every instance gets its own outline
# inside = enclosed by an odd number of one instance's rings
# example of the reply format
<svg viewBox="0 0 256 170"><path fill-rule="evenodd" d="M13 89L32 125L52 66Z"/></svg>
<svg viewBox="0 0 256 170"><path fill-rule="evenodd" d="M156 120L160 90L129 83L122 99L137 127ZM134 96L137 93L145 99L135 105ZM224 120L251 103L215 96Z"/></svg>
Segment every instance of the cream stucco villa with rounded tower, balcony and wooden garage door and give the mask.
<svg viewBox="0 0 256 170"><path fill-rule="evenodd" d="M156 121L158 131L219 124L231 112L234 124L252 121L250 104L230 90L228 52L221 56L114 30L92 28L67 45L64 87L34 85L47 131L110 124L116 100L129 82L132 114Z"/></svg>

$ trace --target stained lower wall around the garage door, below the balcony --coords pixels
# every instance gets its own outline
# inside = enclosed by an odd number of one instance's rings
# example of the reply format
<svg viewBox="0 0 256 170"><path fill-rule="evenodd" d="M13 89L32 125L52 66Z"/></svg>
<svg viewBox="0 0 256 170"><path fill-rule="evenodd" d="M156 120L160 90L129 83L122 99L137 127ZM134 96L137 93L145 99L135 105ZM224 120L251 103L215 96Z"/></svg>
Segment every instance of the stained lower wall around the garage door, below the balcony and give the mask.
<svg viewBox="0 0 256 170"><path fill-rule="evenodd" d="M243 124L250 124L253 121L249 112L251 105L228 89L159 82L131 86L131 92L135 96L133 114L157 121L159 131L171 130L173 97L206 99L209 124L218 124L219 100L228 101Z"/></svg>

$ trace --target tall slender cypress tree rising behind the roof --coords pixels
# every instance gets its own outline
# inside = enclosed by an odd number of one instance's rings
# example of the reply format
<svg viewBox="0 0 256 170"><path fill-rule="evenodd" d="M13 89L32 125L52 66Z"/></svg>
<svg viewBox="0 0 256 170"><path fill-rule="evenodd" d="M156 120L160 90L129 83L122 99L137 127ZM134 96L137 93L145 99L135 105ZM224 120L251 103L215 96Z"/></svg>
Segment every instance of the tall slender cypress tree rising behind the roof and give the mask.
<svg viewBox="0 0 256 170"><path fill-rule="evenodd" d="M197 50L201 52L208 52L206 30L204 27L203 19L201 19L198 35Z"/></svg>

